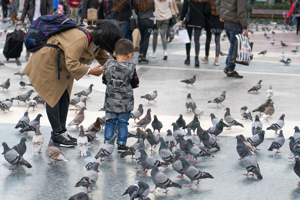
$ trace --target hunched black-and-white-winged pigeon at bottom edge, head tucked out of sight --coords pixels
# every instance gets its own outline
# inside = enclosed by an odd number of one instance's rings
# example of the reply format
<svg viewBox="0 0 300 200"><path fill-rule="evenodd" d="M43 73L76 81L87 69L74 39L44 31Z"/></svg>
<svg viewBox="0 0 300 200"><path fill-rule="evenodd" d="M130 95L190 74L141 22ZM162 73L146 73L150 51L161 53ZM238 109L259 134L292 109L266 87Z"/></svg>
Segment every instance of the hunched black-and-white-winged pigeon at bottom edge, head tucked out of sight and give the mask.
<svg viewBox="0 0 300 200"><path fill-rule="evenodd" d="M134 181L131 185L127 188L123 195L129 194L129 200L133 200L135 198L143 199L147 197L149 194L149 185L144 181ZM122 196L123 196L122 195Z"/></svg>

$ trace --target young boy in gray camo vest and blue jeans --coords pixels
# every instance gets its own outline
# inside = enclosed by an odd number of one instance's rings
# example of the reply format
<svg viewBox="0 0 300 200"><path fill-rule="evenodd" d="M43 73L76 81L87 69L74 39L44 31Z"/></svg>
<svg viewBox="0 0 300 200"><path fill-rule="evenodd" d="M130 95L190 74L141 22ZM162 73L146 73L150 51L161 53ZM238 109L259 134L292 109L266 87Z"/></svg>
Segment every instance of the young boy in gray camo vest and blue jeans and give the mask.
<svg viewBox="0 0 300 200"><path fill-rule="evenodd" d="M135 63L130 62L133 48L130 40L118 40L113 52L116 60L110 59L105 63L106 68L102 77L102 82L106 84L104 143L113 137L114 128L118 123L118 152L125 152L128 149L127 126L134 104L133 88L138 88L139 84Z"/></svg>

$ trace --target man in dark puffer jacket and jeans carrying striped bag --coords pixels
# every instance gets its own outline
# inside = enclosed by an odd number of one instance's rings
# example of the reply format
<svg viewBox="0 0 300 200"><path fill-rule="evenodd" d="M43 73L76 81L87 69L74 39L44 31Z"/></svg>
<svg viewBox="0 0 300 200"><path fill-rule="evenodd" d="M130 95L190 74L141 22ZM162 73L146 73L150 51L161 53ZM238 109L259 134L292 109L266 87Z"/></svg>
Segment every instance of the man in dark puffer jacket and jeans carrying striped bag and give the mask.
<svg viewBox="0 0 300 200"><path fill-rule="evenodd" d="M245 36L248 35L247 0L217 0L215 4L220 15L220 21L224 22L226 35L230 42L224 73L229 78L243 78L243 76L234 71L235 64L230 62L230 58L236 40L235 35L241 33Z"/></svg>

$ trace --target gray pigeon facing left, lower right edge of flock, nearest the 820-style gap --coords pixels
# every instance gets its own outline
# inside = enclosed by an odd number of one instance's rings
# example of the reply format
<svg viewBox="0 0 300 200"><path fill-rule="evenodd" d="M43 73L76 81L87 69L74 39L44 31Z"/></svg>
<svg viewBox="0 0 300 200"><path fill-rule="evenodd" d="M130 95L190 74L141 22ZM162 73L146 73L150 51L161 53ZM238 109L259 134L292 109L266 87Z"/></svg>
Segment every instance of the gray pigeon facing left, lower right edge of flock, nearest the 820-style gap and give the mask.
<svg viewBox="0 0 300 200"><path fill-rule="evenodd" d="M193 167L192 165L188 164L187 161L183 158L183 156L179 157L179 160L182 163L183 173L191 180L190 184L185 187L191 187L193 181L198 181L196 185L199 184L199 179L204 178L214 178L210 173L202 172L197 168Z"/></svg>

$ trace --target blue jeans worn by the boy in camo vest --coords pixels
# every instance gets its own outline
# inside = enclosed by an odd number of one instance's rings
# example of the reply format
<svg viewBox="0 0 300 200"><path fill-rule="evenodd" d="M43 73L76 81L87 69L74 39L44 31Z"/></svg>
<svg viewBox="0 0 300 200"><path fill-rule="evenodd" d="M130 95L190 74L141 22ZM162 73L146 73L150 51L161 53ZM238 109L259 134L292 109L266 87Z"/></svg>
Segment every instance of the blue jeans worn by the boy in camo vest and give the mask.
<svg viewBox="0 0 300 200"><path fill-rule="evenodd" d="M118 138L117 144L126 145L128 128L128 120L131 112L128 113L114 113L110 111L105 112L105 126L104 126L104 144L110 140L114 135L116 123L118 123Z"/></svg>

